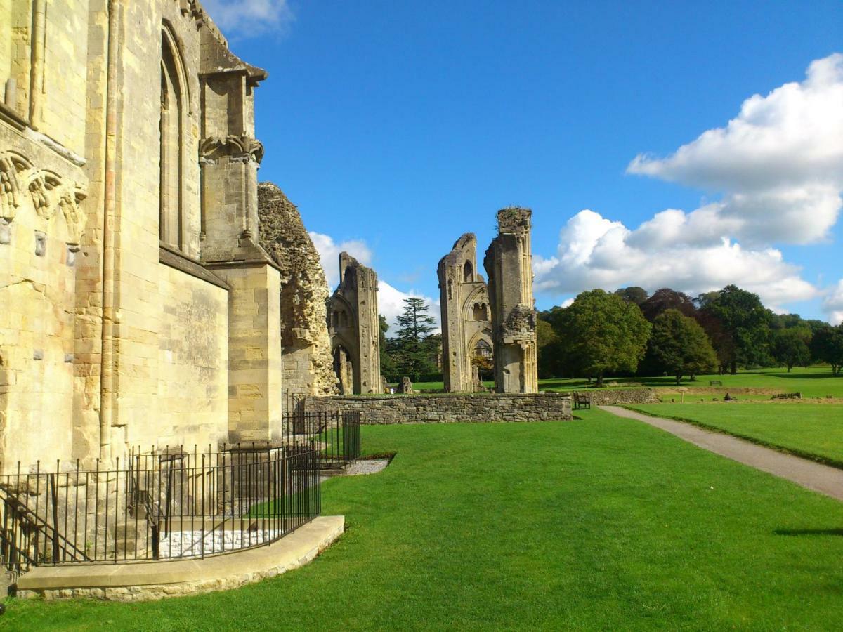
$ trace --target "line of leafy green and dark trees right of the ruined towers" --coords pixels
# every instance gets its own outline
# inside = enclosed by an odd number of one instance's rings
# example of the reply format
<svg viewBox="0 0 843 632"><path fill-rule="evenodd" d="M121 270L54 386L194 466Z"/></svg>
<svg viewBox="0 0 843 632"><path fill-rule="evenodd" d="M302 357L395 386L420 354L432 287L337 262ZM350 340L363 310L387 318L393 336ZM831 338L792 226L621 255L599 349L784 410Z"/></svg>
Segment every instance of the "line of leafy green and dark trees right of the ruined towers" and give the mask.
<svg viewBox="0 0 843 632"><path fill-rule="evenodd" d="M582 292L565 308L540 312L540 378L685 376L738 368L843 366L843 324L776 314L758 295L729 285L690 297L664 287Z"/></svg>

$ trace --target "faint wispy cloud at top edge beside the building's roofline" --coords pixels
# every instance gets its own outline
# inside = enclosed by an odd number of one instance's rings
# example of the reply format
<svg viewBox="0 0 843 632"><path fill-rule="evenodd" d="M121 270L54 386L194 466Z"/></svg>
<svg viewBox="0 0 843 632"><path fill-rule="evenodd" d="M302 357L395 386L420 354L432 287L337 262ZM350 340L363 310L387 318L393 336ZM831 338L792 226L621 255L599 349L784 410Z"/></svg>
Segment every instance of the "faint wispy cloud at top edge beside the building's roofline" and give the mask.
<svg viewBox="0 0 843 632"><path fill-rule="evenodd" d="M295 19L287 0L204 0L203 4L232 40L284 33Z"/></svg>

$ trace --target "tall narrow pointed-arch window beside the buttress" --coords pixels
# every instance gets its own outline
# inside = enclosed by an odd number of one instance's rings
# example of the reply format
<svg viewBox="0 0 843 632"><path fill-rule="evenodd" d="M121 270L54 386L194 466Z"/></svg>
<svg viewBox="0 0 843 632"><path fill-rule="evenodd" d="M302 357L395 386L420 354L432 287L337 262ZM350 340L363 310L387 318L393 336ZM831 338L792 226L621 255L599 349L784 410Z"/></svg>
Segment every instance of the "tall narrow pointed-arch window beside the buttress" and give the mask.
<svg viewBox="0 0 843 632"><path fill-rule="evenodd" d="M182 146L185 89L178 51L169 33L161 37L160 217L158 237L171 248L182 248Z"/></svg>

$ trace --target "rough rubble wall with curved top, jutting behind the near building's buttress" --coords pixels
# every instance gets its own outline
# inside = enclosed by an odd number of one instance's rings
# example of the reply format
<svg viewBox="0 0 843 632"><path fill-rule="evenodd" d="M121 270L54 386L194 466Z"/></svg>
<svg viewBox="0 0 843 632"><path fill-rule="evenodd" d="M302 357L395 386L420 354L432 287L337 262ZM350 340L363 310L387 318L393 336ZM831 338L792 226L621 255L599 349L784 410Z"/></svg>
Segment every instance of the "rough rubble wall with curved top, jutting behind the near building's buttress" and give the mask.
<svg viewBox="0 0 843 632"><path fill-rule="evenodd" d="M290 394L336 393L327 327L328 284L301 215L271 182L258 185L260 245L281 273L283 388Z"/></svg>

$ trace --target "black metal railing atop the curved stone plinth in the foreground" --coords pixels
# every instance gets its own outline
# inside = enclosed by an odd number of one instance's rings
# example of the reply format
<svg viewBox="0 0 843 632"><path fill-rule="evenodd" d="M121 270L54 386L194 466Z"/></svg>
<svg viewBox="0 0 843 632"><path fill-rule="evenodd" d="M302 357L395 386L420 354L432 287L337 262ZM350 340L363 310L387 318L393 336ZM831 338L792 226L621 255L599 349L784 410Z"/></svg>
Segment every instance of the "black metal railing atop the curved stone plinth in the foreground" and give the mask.
<svg viewBox="0 0 843 632"><path fill-rule="evenodd" d="M319 515L319 449L135 454L113 469L0 476L0 558L33 565L203 558L271 544Z"/></svg>

